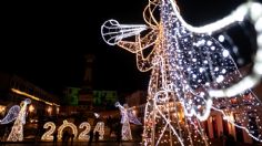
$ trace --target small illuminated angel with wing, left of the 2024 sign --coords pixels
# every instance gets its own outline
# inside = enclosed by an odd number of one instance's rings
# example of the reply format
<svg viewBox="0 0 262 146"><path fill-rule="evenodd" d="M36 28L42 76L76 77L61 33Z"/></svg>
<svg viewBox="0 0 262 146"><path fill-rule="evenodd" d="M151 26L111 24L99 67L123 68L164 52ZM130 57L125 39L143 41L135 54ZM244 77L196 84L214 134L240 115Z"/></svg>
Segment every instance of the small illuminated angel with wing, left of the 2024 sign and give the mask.
<svg viewBox="0 0 262 146"><path fill-rule="evenodd" d="M23 140L23 125L26 124L27 106L31 103L31 100L27 98L21 102L20 106L12 106L7 116L0 121L0 124L8 124L13 122L12 131L8 136L8 142L21 142Z"/></svg>

